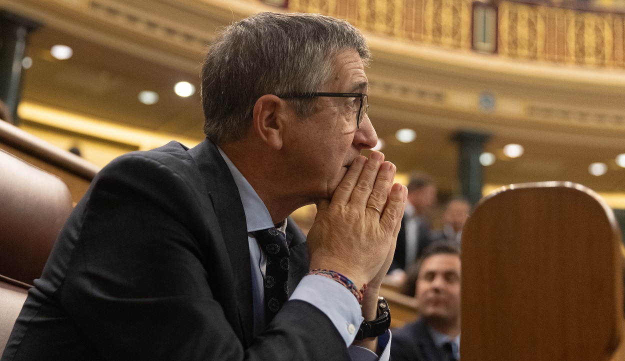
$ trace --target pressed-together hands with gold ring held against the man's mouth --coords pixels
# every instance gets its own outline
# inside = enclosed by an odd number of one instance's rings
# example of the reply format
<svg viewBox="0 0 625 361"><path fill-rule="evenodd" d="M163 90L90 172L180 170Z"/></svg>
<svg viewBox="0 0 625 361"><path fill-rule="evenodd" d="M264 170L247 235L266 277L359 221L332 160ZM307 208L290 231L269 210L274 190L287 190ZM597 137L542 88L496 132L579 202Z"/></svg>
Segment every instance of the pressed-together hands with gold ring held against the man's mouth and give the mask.
<svg viewBox="0 0 625 361"><path fill-rule="evenodd" d="M365 303L377 304L406 206L406 187L392 183L395 172L381 152L354 159L332 199L317 203L307 236L311 269L334 270L357 287L367 284L363 316L370 308Z"/></svg>

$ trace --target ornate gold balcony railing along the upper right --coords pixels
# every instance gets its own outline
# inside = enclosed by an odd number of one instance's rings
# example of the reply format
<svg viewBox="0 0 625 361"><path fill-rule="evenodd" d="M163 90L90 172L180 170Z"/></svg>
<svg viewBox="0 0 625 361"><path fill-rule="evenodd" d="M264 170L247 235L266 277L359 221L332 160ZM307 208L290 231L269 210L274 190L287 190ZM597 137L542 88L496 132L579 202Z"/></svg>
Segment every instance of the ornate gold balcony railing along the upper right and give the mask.
<svg viewBox="0 0 625 361"><path fill-rule="evenodd" d="M512 1L498 2L494 8L497 15L492 18L492 31L496 43L492 49L499 56L625 68L622 12ZM481 49L472 43L471 0L289 0L288 9L339 17L363 31L402 41L460 51Z"/></svg>

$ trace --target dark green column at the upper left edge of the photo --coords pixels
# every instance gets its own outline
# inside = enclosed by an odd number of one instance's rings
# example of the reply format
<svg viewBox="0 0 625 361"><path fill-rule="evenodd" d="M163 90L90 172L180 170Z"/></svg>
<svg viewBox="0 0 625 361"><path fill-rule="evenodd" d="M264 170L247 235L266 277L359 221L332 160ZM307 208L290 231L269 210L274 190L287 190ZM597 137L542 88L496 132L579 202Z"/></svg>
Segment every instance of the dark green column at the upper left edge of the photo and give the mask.
<svg viewBox="0 0 625 361"><path fill-rule="evenodd" d="M17 122L21 97L22 60L29 34L40 24L12 12L0 11L0 100Z"/></svg>

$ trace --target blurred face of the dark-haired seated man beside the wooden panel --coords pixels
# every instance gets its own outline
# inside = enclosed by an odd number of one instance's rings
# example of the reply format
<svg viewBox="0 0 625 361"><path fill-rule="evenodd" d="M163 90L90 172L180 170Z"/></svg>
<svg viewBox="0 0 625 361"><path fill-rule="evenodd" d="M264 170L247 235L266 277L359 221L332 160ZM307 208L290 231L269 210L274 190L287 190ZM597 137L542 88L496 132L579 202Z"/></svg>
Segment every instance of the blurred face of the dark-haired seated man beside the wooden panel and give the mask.
<svg viewBox="0 0 625 361"><path fill-rule="evenodd" d="M454 323L460 317L460 257L435 254L421 264L416 299L424 319Z"/></svg>

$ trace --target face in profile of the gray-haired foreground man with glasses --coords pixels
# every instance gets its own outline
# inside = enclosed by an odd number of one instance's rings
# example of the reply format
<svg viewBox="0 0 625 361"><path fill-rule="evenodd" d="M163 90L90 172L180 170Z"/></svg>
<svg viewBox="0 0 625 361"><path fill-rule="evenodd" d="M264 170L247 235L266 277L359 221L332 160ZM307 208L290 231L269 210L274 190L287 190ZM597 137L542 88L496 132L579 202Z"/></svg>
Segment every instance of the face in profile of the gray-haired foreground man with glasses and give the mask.
<svg viewBox="0 0 625 361"><path fill-rule="evenodd" d="M320 92L366 94L367 76L356 50L337 54L334 69L335 76ZM309 119L289 122L291 128L286 130L289 143L284 148L288 152L289 169L298 175L292 186L311 202L330 199L362 149L370 149L377 143L376 131L367 115L360 127L356 126L360 99L317 97L316 101L316 111Z"/></svg>

